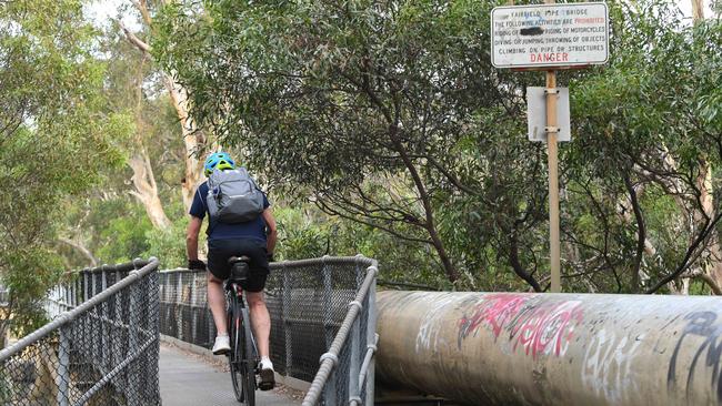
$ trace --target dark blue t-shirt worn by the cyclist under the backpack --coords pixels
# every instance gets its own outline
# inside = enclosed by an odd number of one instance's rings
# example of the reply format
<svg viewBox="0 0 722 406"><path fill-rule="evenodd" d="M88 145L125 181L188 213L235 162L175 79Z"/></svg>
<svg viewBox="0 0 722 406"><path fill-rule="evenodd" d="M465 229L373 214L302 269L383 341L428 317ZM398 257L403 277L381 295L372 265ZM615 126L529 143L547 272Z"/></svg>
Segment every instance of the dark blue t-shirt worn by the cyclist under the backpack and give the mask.
<svg viewBox="0 0 722 406"><path fill-rule="evenodd" d="M263 192L261 192L263 193ZM203 219L208 214L208 205L205 203L208 196L208 182L201 183L195 190L193 195L193 203L191 204L190 214L194 217ZM263 209L270 206L265 193L263 193ZM223 224L209 224L208 240L233 240L233 238L258 238L265 243L265 220L262 215L245 223Z"/></svg>

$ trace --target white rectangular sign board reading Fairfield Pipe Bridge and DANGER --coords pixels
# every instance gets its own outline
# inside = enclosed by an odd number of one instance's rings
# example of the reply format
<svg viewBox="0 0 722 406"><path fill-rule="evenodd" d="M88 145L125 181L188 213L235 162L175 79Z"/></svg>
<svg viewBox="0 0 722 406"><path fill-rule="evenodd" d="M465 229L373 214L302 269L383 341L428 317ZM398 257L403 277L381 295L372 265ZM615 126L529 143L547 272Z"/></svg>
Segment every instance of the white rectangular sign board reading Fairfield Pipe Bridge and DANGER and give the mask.
<svg viewBox="0 0 722 406"><path fill-rule="evenodd" d="M497 68L606 63L606 4L497 7L491 11L491 63Z"/></svg>

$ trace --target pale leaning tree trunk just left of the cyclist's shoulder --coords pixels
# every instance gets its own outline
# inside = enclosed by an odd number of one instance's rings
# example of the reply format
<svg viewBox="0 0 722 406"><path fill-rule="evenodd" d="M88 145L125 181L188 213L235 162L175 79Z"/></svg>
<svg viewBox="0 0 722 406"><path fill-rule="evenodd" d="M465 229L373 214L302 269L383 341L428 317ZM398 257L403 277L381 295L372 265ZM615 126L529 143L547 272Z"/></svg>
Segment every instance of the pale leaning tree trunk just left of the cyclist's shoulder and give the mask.
<svg viewBox="0 0 722 406"><path fill-rule="evenodd" d="M131 180L136 186L136 190L130 193L143 204L153 227L163 231L170 229L171 223L158 196L158 185L148 154L142 151L140 155L131 158L128 164L133 170Z"/></svg>

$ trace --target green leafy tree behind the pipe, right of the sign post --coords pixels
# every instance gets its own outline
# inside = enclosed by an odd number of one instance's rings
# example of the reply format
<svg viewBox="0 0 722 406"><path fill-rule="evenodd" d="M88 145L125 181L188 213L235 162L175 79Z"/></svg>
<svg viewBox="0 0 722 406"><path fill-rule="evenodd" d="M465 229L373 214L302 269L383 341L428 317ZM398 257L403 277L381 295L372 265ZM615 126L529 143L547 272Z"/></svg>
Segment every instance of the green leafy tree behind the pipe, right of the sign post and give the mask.
<svg viewBox="0 0 722 406"><path fill-rule="evenodd" d="M720 261L709 192L721 120L709 100L719 97L721 27L685 27L664 2L616 12L620 51L572 89L572 114L585 120L566 161L584 174L570 189L603 227L570 219L569 235L586 251L585 273L612 275L618 292L652 293Z"/></svg>

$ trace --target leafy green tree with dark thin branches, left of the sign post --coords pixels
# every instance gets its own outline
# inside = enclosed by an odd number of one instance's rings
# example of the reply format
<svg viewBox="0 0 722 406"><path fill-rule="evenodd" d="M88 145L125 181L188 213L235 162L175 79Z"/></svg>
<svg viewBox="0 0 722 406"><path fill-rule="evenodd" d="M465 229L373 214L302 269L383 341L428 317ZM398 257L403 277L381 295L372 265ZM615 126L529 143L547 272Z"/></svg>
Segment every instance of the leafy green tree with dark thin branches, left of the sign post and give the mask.
<svg viewBox="0 0 722 406"><path fill-rule="evenodd" d="M197 120L242 145L245 161L315 191L328 213L433 246L454 282L435 183L455 180L447 151L479 130L474 110L498 105L479 97L499 90L470 41L488 9L218 2L189 21L192 7L169 8L159 53Z"/></svg>

